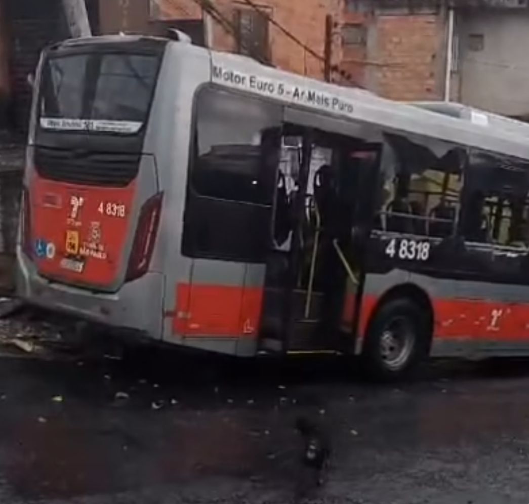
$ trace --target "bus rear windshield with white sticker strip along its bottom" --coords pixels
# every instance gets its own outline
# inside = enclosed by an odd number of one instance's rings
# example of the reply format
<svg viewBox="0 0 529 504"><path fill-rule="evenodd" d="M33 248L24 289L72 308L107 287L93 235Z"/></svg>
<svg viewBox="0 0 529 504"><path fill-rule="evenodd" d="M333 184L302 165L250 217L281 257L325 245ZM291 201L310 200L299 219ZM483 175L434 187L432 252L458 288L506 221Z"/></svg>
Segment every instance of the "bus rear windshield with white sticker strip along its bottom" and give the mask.
<svg viewBox="0 0 529 504"><path fill-rule="evenodd" d="M147 120L159 56L75 54L44 65L40 126L45 130L134 134Z"/></svg>

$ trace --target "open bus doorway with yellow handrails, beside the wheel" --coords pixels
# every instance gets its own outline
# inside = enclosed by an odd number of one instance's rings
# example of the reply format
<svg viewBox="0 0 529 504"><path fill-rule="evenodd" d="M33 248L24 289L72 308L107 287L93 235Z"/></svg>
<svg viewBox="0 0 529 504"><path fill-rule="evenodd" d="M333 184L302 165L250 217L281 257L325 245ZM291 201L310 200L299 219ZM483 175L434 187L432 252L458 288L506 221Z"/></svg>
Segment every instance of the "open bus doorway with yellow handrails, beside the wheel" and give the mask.
<svg viewBox="0 0 529 504"><path fill-rule="evenodd" d="M293 125L282 145L261 349L346 352L354 347L380 145ZM353 314L346 326L344 309Z"/></svg>

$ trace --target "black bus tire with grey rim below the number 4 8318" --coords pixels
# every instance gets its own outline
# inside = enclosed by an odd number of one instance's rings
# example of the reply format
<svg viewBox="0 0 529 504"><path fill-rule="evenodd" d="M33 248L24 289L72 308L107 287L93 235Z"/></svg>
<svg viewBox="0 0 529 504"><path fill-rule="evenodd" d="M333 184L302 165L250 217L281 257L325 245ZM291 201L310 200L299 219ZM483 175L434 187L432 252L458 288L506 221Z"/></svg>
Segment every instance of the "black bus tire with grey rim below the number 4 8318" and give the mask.
<svg viewBox="0 0 529 504"><path fill-rule="evenodd" d="M425 310L412 299L386 301L369 324L362 351L364 370L378 380L403 378L425 358L430 331Z"/></svg>

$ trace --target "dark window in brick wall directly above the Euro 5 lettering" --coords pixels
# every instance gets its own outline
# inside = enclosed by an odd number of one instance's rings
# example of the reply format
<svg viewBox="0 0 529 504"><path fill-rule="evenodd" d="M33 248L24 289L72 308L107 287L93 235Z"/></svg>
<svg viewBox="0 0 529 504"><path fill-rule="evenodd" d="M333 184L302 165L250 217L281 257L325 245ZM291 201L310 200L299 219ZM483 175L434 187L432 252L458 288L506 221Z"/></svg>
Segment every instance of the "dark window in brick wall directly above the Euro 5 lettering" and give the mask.
<svg viewBox="0 0 529 504"><path fill-rule="evenodd" d="M235 10L237 50L262 63L270 61L268 15L258 10L238 8Z"/></svg>

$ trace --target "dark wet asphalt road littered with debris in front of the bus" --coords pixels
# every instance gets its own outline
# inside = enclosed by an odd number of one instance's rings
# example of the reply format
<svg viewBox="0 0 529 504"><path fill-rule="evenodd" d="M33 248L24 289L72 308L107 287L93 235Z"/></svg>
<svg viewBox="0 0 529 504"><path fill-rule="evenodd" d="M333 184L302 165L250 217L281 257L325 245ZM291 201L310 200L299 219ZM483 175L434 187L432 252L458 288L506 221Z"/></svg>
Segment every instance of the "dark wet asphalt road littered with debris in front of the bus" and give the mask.
<svg viewBox="0 0 529 504"><path fill-rule="evenodd" d="M143 357L0 359L0 503L529 502L529 361L377 386L335 360ZM300 414L334 448L303 498Z"/></svg>

